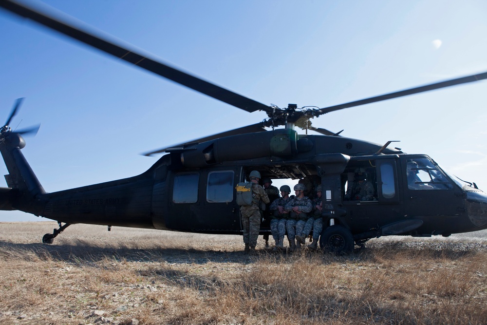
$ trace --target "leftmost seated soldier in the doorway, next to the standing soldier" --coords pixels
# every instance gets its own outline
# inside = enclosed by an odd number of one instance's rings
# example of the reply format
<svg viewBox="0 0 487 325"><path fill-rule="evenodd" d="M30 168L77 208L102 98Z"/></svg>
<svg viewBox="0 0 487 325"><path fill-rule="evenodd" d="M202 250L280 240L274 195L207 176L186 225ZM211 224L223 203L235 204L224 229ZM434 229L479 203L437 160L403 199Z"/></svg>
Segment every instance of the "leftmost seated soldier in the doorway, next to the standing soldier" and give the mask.
<svg viewBox="0 0 487 325"><path fill-rule="evenodd" d="M283 241L286 234L286 221L289 218L289 211L284 210L287 202L289 202L289 193L291 188L287 185L282 185L281 197L272 202L269 210L273 213L271 216L270 227L272 237L276 241L276 247L273 250L284 249Z"/></svg>

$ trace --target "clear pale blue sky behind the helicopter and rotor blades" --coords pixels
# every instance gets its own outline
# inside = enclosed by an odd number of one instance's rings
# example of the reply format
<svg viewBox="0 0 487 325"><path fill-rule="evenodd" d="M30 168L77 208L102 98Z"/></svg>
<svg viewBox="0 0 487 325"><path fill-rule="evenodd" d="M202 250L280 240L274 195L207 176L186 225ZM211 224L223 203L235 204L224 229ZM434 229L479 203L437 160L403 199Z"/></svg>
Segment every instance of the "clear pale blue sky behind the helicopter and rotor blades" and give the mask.
<svg viewBox="0 0 487 325"><path fill-rule="evenodd" d="M487 71L487 2L24 1L263 104L327 107ZM60 12L58 12L60 11ZM140 174L140 153L262 121L0 9L0 120L41 123L22 150L44 189ZM487 189L487 82L312 120L342 136L399 140ZM3 112L3 113L1 113ZM3 116L3 117L1 117ZM304 131L303 131L304 133ZM2 164L0 172L6 174ZM6 187L3 178L0 187ZM0 221L42 221L0 211Z"/></svg>

